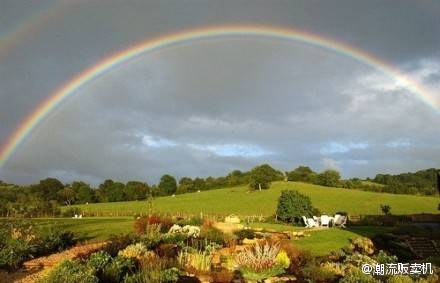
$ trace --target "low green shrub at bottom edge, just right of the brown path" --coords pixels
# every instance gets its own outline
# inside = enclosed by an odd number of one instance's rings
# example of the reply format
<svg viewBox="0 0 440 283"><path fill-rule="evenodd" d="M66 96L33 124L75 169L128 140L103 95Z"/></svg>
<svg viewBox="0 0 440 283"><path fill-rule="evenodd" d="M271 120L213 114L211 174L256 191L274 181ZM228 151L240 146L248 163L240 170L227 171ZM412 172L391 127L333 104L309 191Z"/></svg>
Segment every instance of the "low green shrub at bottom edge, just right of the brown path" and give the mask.
<svg viewBox="0 0 440 283"><path fill-rule="evenodd" d="M52 269L40 283L96 283L98 278L93 270L78 260L65 260Z"/></svg>

